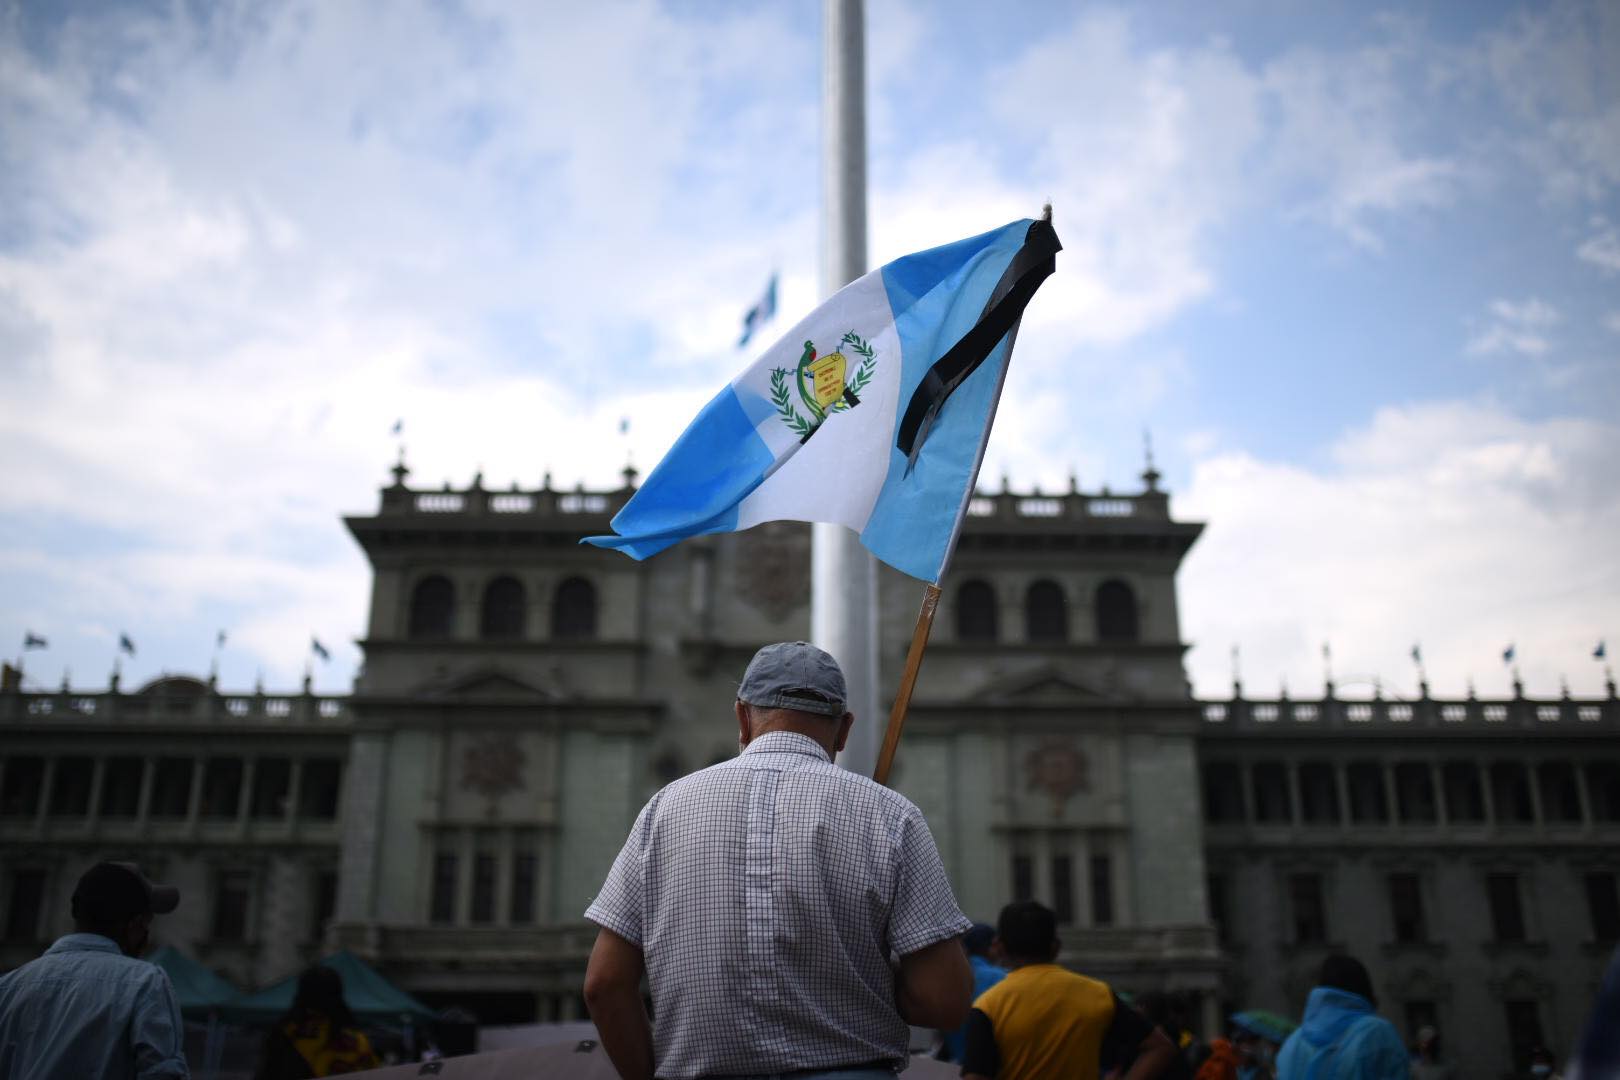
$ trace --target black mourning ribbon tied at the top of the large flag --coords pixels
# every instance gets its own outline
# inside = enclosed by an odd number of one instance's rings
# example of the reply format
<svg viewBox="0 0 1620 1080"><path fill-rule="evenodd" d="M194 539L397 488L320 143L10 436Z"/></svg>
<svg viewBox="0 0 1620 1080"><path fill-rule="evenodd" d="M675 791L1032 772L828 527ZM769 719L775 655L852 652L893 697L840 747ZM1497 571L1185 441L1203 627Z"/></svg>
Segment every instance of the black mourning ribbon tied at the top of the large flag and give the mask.
<svg viewBox="0 0 1620 1080"><path fill-rule="evenodd" d="M899 434L894 437L894 445L907 458L907 474L917 465L917 453L927 442L928 429L940 410L944 408L944 400L956 392L956 387L962 385L967 376L978 369L978 364L985 363L1003 337L1009 332L1017 335L1017 322L1024 316L1024 308L1029 306L1040 283L1056 269L1059 251L1063 251L1063 244L1058 243L1058 233L1051 228L1051 222L1032 222L1029 232L1024 233L1024 246L1001 272L1001 280L996 282L990 300L985 301L985 311L978 316L978 322L944 356L935 361L922 382L917 384L912 400L906 405L906 415L901 418Z"/></svg>

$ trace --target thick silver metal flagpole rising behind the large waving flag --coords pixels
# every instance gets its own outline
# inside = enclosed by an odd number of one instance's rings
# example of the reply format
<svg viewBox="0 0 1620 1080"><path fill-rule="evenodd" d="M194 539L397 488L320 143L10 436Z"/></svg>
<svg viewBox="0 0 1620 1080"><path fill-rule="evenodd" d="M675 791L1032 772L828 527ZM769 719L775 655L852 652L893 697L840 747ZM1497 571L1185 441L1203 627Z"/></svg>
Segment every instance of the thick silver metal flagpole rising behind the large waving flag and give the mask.
<svg viewBox="0 0 1620 1080"><path fill-rule="evenodd" d="M821 295L867 272L867 79L862 0L821 8ZM842 525L813 525L810 636L838 657L855 727L839 755L872 776L878 759L878 567Z"/></svg>

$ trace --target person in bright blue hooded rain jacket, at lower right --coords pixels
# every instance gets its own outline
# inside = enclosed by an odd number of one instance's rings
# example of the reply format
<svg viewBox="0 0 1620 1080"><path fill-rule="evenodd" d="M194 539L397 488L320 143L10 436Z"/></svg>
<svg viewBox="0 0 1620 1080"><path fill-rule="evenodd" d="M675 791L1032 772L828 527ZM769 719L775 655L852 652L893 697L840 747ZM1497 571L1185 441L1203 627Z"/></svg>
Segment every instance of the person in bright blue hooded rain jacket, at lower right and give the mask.
<svg viewBox="0 0 1620 1080"><path fill-rule="evenodd" d="M1406 1080L1406 1046L1377 1007L1361 960L1330 955L1306 999L1304 1023L1277 1056L1277 1080Z"/></svg>

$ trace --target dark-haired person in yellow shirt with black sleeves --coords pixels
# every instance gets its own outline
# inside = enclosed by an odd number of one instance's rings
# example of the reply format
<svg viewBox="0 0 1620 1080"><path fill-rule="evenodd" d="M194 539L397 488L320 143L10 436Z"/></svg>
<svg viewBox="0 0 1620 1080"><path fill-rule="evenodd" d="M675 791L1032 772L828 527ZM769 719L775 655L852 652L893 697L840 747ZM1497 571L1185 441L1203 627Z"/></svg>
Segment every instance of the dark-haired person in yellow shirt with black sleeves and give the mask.
<svg viewBox="0 0 1620 1080"><path fill-rule="evenodd" d="M1056 963L1051 908L1006 905L996 942L1009 972L967 1014L964 1080L1097 1080L1105 1044L1111 1061L1131 1061L1124 1080L1150 1080L1171 1064L1176 1046L1108 983Z"/></svg>

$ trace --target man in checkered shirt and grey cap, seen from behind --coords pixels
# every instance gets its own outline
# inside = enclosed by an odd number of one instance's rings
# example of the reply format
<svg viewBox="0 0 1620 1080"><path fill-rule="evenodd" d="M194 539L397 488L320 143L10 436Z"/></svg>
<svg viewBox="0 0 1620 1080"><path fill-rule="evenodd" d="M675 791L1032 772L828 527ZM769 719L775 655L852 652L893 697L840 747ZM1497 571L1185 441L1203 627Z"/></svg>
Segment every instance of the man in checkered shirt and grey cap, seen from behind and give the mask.
<svg viewBox="0 0 1620 1080"><path fill-rule="evenodd" d="M972 923L922 813L833 764L846 696L821 649L765 646L737 687L742 753L635 819L585 912L585 1001L625 1080L893 1077L907 1023L967 1015Z"/></svg>

